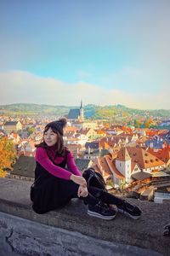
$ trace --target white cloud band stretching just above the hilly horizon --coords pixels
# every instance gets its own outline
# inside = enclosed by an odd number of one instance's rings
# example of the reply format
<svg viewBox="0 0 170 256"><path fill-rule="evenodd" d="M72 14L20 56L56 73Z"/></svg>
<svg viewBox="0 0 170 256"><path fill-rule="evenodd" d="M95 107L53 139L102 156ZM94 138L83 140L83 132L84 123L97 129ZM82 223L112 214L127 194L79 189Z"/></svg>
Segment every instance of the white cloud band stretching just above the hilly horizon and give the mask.
<svg viewBox="0 0 170 256"><path fill-rule="evenodd" d="M169 108L167 84L159 94L153 91L136 93L104 89L96 84L78 82L68 84L32 73L13 71L0 73L0 104L17 102L76 106L82 102L98 105L123 104L130 108Z"/></svg>

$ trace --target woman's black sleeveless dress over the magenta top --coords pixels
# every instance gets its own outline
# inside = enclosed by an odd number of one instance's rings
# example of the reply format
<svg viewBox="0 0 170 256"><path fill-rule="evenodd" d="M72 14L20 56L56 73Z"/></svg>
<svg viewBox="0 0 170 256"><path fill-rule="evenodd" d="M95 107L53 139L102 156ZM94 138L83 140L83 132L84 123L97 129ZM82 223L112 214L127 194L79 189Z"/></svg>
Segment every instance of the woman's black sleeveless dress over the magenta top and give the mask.
<svg viewBox="0 0 170 256"><path fill-rule="evenodd" d="M66 158L58 165L65 168ZM71 180L54 177L38 162L35 170L35 186L32 208L41 214L63 207L73 197L77 197L78 185Z"/></svg>

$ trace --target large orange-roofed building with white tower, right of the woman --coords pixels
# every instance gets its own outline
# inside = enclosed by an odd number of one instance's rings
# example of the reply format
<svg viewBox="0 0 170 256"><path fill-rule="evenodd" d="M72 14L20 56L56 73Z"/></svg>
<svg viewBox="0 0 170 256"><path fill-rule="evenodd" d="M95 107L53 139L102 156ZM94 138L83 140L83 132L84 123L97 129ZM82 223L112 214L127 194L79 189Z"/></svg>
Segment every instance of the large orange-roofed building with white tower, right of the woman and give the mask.
<svg viewBox="0 0 170 256"><path fill-rule="evenodd" d="M118 188L134 179L159 177L159 173L162 177L161 171L166 168L166 163L144 148L122 147L117 153L96 157L94 168L101 174L110 173L113 186Z"/></svg>

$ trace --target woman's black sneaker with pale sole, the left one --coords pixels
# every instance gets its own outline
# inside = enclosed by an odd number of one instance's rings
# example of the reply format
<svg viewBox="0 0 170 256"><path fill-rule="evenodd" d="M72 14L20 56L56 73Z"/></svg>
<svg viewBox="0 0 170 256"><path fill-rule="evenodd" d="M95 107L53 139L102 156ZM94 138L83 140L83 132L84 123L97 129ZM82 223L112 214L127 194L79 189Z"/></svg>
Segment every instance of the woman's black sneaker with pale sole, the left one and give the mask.
<svg viewBox="0 0 170 256"><path fill-rule="evenodd" d="M88 215L109 220L115 218L116 211L102 201L99 201L95 206L88 205Z"/></svg>

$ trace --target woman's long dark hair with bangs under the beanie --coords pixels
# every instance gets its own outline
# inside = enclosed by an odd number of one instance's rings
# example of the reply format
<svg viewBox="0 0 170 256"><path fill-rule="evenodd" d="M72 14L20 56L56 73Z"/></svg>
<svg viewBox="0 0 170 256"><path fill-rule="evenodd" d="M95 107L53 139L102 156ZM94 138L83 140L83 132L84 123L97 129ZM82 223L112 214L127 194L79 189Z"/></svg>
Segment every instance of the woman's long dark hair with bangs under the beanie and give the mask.
<svg viewBox="0 0 170 256"><path fill-rule="evenodd" d="M64 146L64 140L63 137L59 134L59 131L57 131L57 129L55 129L54 127L51 127L50 125L46 125L44 131L43 131L43 137L42 137L42 142L35 145L36 148L49 148L48 145L45 143L44 141L44 133L48 131L48 129L51 128L51 130L57 134L57 143L55 144L55 155L65 155L65 146Z"/></svg>

